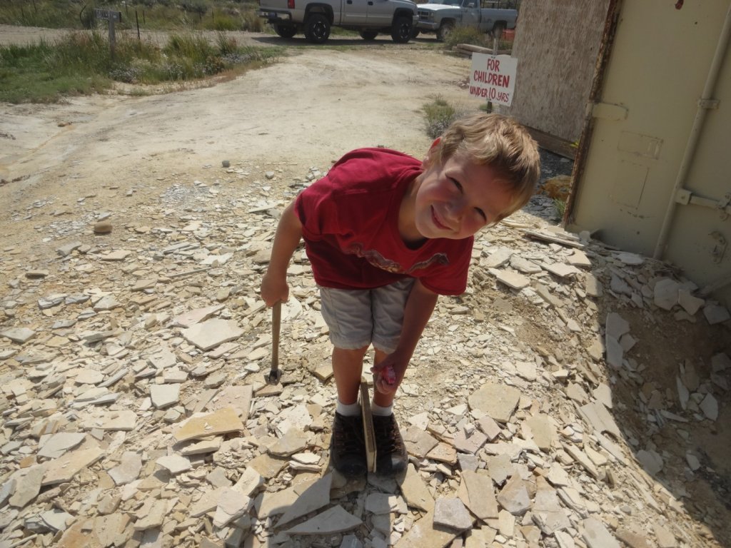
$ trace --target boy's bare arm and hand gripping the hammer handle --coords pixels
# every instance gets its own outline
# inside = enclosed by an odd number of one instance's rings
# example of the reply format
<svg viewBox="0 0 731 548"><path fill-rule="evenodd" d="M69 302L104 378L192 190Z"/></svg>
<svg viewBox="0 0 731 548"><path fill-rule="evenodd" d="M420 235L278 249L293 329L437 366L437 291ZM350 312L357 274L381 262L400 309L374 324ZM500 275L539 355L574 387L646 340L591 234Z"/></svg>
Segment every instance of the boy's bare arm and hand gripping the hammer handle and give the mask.
<svg viewBox="0 0 731 548"><path fill-rule="evenodd" d="M295 202L291 202L281 214L274 235L269 266L262 278L261 294L267 306L285 301L289 297L287 267L289 260L300 245L302 223L295 213Z"/></svg>

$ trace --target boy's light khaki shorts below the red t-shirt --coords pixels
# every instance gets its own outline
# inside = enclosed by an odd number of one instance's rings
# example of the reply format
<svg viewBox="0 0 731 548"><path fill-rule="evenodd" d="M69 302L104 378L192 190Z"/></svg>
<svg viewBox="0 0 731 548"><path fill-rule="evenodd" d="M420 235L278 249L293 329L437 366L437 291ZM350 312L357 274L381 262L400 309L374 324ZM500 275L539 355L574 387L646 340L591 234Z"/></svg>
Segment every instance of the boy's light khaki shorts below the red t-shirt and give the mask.
<svg viewBox="0 0 731 548"><path fill-rule="evenodd" d="M322 317L330 328L330 341L338 349L370 346L390 354L398 346L404 308L414 278L404 278L375 289L319 287Z"/></svg>

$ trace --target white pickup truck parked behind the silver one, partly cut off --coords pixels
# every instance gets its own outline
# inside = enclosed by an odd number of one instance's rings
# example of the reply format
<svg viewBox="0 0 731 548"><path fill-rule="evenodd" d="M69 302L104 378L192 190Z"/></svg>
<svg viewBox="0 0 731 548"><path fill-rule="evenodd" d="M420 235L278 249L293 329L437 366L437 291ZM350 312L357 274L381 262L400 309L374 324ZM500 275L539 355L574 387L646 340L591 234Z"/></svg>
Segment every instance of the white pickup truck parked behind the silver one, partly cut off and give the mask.
<svg viewBox="0 0 731 548"><path fill-rule="evenodd" d="M518 10L515 2L488 1L491 7L480 7L480 0L428 0L419 4L419 32L436 32L436 38L444 41L455 26L475 26L482 32L501 37L506 28L515 28ZM512 7L504 7L512 6Z"/></svg>

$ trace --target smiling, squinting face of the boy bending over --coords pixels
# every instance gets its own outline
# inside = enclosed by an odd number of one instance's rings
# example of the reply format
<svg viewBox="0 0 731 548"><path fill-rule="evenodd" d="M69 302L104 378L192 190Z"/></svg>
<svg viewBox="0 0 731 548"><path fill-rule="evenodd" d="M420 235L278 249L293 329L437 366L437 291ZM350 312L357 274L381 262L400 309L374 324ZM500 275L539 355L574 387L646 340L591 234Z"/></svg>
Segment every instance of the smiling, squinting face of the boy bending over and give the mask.
<svg viewBox="0 0 731 548"><path fill-rule="evenodd" d="M423 238L461 240L498 220L514 200L488 164L461 153L444 164L431 162L412 189L413 225Z"/></svg>

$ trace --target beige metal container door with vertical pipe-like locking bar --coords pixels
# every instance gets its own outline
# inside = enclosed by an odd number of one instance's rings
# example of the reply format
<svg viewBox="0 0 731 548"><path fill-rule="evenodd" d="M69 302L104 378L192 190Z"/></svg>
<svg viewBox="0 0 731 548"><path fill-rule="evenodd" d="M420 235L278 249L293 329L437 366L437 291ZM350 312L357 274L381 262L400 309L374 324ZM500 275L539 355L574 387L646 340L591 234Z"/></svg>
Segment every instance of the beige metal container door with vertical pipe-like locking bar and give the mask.
<svg viewBox="0 0 731 548"><path fill-rule="evenodd" d="M672 262L727 305L730 12L729 0L618 4L567 211L570 229Z"/></svg>

